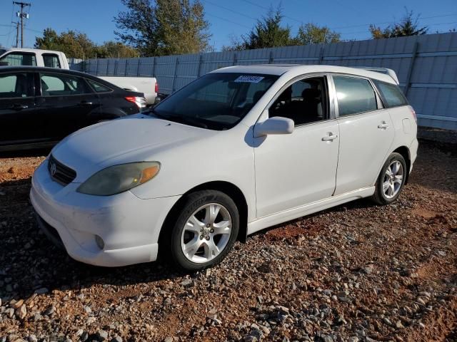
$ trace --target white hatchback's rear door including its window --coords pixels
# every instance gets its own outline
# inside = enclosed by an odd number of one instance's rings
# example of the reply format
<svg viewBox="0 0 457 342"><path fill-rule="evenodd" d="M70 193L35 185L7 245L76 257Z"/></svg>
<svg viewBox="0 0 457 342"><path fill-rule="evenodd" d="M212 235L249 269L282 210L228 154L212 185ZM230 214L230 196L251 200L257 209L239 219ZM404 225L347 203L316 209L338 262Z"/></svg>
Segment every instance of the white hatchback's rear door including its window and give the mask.
<svg viewBox="0 0 457 342"><path fill-rule="evenodd" d="M334 195L371 187L390 151L391 117L368 78L333 75L340 150Z"/></svg>

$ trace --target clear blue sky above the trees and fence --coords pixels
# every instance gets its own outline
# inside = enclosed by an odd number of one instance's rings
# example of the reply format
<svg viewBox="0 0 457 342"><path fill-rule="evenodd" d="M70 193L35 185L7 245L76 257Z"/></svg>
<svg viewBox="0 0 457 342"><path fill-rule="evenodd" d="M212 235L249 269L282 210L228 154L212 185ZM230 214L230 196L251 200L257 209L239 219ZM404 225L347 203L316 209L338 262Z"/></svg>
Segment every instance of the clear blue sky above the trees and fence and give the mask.
<svg viewBox="0 0 457 342"><path fill-rule="evenodd" d="M68 29L86 33L92 41L103 43L116 38L114 16L125 10L120 0L23 0L31 3L26 11L24 47L33 47L35 36L44 28L57 32ZM293 34L302 23L328 26L341 33L341 39L368 39L369 24L385 27L405 14L405 7L420 15L419 24L431 33L456 28L457 0L201 0L210 23L211 46L220 51L230 45L231 37L239 37L265 16L268 9L281 5L283 24L291 26ZM16 11L11 0L0 0L0 46L11 47L16 42Z"/></svg>

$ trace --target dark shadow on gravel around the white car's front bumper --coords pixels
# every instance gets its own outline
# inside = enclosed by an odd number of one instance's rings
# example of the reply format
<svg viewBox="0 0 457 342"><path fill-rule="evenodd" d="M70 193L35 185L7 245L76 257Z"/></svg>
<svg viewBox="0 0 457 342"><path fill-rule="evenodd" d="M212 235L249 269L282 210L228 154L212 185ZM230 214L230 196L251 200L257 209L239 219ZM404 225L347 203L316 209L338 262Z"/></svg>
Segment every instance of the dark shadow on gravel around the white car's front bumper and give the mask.
<svg viewBox="0 0 457 342"><path fill-rule="evenodd" d="M164 261L108 268L71 259L39 230L29 201L30 182L31 178L0 183L0 298L4 301L27 299L36 291L124 286L183 275Z"/></svg>

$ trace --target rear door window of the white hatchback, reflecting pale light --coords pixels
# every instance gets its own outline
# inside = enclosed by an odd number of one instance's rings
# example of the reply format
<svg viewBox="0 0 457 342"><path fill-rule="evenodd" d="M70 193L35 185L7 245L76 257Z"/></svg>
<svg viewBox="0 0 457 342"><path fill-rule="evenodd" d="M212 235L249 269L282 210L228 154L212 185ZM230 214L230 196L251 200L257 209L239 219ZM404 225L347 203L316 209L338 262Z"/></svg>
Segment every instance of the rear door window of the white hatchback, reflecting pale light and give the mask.
<svg viewBox="0 0 457 342"><path fill-rule="evenodd" d="M368 80L333 76L338 99L338 115L352 115L378 109L376 95Z"/></svg>

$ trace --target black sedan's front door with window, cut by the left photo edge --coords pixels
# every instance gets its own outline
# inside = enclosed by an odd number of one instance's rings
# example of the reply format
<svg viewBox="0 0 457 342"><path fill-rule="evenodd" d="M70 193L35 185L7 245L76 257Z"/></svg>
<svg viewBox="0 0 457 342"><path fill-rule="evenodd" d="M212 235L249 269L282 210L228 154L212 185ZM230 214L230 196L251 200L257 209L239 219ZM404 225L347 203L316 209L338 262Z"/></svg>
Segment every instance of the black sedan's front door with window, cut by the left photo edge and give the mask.
<svg viewBox="0 0 457 342"><path fill-rule="evenodd" d="M36 115L34 73L0 73L0 145L44 140L44 128Z"/></svg>

